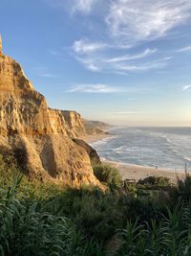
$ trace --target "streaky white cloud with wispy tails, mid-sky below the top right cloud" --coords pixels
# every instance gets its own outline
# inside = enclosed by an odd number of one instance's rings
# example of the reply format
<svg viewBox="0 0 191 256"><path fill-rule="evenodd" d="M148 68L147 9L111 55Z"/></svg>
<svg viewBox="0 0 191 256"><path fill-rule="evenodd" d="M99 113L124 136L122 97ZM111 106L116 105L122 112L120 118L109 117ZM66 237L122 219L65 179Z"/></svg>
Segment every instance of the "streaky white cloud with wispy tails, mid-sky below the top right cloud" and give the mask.
<svg viewBox="0 0 191 256"><path fill-rule="evenodd" d="M87 38L74 41L72 49L74 58L81 62L88 70L93 72L116 73L118 75L126 75L129 72L135 71L142 72L158 68L161 69L167 65L170 59L144 60L144 62L141 61L139 63L139 59L149 58L155 55L158 53L158 49L147 48L135 54L124 54L124 49L121 49L120 46L104 42L93 42ZM127 49L125 51L130 52ZM123 53L122 55L120 54L121 52Z"/></svg>

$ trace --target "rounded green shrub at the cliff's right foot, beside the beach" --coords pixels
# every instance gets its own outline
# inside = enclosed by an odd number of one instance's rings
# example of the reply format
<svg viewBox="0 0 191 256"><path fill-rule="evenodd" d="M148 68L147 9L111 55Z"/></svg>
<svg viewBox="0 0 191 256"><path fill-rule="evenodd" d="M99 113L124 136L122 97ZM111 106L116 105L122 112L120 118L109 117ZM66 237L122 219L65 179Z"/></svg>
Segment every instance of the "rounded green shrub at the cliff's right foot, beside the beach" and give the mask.
<svg viewBox="0 0 191 256"><path fill-rule="evenodd" d="M118 170L109 165L96 165L94 167L94 174L101 182L113 184L117 187L120 187L122 184L122 179Z"/></svg>

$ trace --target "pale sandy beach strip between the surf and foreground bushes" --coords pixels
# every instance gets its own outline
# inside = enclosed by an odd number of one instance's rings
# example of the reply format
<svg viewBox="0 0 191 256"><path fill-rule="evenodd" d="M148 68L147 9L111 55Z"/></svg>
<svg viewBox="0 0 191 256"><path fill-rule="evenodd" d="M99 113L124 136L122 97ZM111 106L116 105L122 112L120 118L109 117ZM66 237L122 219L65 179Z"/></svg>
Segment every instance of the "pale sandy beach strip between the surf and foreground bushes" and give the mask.
<svg viewBox="0 0 191 256"><path fill-rule="evenodd" d="M140 178L145 178L150 175L154 176L165 176L168 177L172 183L177 183L177 178L182 179L184 177L184 172L177 172L176 170L162 169L162 168L152 168L139 165L123 164L120 162L108 161L101 159L104 164L111 165L118 169L122 179L135 179L138 181Z"/></svg>

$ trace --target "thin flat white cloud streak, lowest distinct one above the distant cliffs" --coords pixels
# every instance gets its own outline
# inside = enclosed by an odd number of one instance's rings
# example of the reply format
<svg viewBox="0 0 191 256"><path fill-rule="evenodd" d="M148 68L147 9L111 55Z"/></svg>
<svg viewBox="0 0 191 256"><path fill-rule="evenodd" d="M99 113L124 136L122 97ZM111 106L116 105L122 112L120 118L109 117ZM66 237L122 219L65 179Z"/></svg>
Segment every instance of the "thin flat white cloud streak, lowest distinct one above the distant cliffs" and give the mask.
<svg viewBox="0 0 191 256"><path fill-rule="evenodd" d="M68 92L84 92L84 93L115 93L121 92L120 88L107 84L77 84Z"/></svg>

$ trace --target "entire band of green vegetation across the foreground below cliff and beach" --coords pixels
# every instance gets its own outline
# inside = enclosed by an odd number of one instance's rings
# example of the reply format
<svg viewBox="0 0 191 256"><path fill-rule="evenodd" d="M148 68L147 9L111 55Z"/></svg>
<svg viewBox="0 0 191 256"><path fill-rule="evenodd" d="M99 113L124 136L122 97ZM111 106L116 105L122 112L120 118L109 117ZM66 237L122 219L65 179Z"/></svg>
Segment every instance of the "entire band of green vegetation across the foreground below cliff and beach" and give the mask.
<svg viewBox="0 0 191 256"><path fill-rule="evenodd" d="M106 193L29 181L0 155L0 255L191 255L191 176L121 186L113 168L95 172Z"/></svg>

